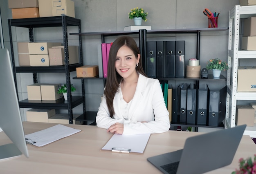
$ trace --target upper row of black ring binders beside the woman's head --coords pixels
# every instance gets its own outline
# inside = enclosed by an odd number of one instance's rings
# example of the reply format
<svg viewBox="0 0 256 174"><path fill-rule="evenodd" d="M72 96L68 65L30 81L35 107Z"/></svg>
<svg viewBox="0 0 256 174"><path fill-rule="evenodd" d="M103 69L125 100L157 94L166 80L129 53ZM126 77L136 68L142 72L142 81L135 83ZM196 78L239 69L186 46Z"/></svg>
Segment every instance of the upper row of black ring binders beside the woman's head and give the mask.
<svg viewBox="0 0 256 174"><path fill-rule="evenodd" d="M148 41L145 72L153 78L184 78L185 41Z"/></svg>

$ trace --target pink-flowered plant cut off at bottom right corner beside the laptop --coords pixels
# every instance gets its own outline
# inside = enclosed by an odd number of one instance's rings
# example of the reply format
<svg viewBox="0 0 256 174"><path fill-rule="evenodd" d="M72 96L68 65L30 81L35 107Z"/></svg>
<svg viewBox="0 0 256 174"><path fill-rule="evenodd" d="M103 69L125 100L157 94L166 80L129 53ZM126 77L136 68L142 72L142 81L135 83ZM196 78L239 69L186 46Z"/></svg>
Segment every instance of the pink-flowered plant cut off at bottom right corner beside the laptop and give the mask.
<svg viewBox="0 0 256 174"><path fill-rule="evenodd" d="M239 170L232 172L232 174L256 174L256 154L254 154L254 161L249 157L239 159Z"/></svg>

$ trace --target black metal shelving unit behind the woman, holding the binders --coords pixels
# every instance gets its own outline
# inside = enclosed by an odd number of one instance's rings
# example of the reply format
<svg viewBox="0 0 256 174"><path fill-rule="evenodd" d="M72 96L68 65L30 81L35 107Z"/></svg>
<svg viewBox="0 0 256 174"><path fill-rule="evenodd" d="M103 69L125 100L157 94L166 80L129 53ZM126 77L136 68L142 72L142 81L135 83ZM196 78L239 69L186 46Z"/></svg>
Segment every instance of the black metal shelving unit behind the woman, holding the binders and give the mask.
<svg viewBox="0 0 256 174"><path fill-rule="evenodd" d="M97 36L101 35L101 42L105 43L105 37L108 36L121 36L121 35L133 35L139 34L139 51L141 53L142 60L146 60L146 38L148 34L186 34L186 33L193 33L196 35L196 58L200 60L200 34L202 31L227 31L229 28L198 28L198 29L164 29L164 30L137 30L137 31L103 31L103 32L83 32L83 33L70 33L70 35L77 35L81 36ZM143 65L145 67L145 65ZM85 79L102 79L106 80L103 77L94 77L94 78L77 78L74 77L73 79L80 79L84 81ZM196 85L199 84L199 81L227 81L224 76L220 76L219 79L214 79L213 75L209 75L208 78L157 78L159 80L194 80ZM93 115L96 116L97 112L92 112ZM80 117L83 120L82 117ZM85 119L86 120L86 119ZM174 126L193 126L193 127L209 127L207 125L184 125L179 123L171 123ZM224 128L224 125L220 125L217 128Z"/></svg>

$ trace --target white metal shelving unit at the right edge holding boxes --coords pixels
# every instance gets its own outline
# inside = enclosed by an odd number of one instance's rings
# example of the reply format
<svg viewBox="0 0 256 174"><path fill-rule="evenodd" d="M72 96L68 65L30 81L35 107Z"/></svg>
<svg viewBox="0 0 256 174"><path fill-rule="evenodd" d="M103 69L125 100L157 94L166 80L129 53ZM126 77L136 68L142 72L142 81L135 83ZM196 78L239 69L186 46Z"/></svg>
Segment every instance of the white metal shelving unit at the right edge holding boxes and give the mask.
<svg viewBox="0 0 256 174"><path fill-rule="evenodd" d="M228 40L228 65L227 71L227 106L225 127L235 127L236 123L236 102L237 100L256 100L256 92L238 92L237 72L239 59L254 58L256 51L239 50L240 19L256 16L256 5L240 6L236 5L229 11L229 40ZM251 137L256 137L256 124L254 127L247 127L245 133Z"/></svg>

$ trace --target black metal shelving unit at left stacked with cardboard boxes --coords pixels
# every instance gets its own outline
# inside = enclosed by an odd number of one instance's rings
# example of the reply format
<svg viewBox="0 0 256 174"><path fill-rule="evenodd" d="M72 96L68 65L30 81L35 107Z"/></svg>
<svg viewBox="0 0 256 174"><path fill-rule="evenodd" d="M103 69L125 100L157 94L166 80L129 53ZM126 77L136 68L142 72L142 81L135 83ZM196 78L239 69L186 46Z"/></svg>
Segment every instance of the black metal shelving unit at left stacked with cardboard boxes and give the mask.
<svg viewBox="0 0 256 174"><path fill-rule="evenodd" d="M72 109L80 104L83 104L83 115L85 114L85 90L84 82L82 80L82 95L81 97L74 97L71 94L71 83L70 83L70 72L76 71L76 67L83 66L83 53L82 53L82 39L79 36L79 54L80 62L78 64L70 65L69 64L69 55L68 55L68 26L77 26L79 32L81 32L81 20L72 18L69 16L54 16L54 17L44 17L44 18L25 18L25 19L8 19L9 24L9 36L11 44L11 58L13 66L13 75L16 84L16 91L18 96L17 89L17 79L16 73L33 73L34 83L38 83L37 73L56 73L61 72L65 73L66 84L67 84L67 100L58 99L56 101L47 101L47 100L21 100L19 105L21 108L38 108L38 109L67 109L69 115L69 123L73 124L73 111ZM11 27L25 27L29 29L29 41L34 42L34 31L33 28L39 27L62 27L63 32L63 46L64 46L64 56L65 56L65 65L63 66L50 66L50 67L16 67L13 53L13 40Z"/></svg>

